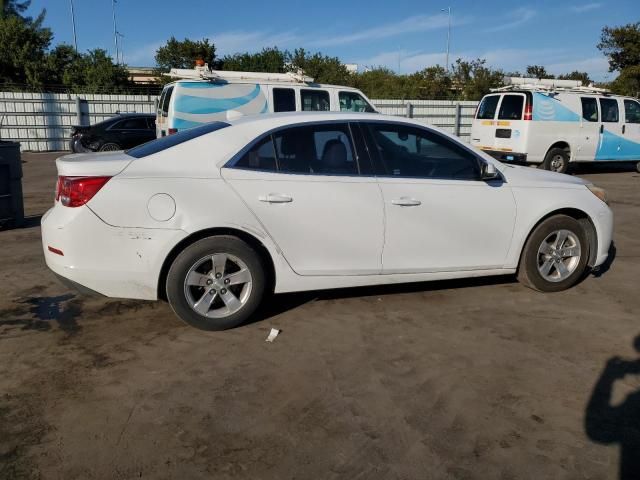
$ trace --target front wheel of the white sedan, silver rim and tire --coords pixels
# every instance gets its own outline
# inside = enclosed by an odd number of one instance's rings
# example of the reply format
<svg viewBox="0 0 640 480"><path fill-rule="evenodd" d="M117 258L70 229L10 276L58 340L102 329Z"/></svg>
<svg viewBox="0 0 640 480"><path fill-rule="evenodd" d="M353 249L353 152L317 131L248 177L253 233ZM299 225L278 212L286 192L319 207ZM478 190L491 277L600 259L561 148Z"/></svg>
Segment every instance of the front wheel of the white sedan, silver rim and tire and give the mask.
<svg viewBox="0 0 640 480"><path fill-rule="evenodd" d="M580 223L566 215L543 221L533 231L520 257L518 280L540 292L559 292L584 275L589 242Z"/></svg>

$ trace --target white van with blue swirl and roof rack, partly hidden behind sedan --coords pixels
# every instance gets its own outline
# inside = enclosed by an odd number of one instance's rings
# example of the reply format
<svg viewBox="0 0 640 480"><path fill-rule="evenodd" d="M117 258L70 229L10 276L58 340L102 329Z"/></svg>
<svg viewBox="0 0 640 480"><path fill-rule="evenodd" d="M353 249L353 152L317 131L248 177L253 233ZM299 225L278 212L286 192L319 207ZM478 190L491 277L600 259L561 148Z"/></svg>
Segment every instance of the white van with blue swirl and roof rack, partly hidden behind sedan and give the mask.
<svg viewBox="0 0 640 480"><path fill-rule="evenodd" d="M156 112L156 136L241 115L294 111L376 112L356 88L322 85L299 73L172 69L181 78L164 86Z"/></svg>

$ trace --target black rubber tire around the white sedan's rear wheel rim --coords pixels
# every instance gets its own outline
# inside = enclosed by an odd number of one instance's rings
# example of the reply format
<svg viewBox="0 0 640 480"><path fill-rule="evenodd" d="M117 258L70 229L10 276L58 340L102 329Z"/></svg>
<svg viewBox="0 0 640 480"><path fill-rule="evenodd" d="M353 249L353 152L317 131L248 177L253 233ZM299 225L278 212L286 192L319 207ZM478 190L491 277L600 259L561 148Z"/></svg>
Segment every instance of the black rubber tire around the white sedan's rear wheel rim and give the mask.
<svg viewBox="0 0 640 480"><path fill-rule="evenodd" d="M185 287L187 274L192 267L203 258L214 254L226 254L239 259L246 265L251 275L250 293L248 293L244 304L234 313L222 318L211 318L196 312L191 307L190 299L187 298L187 287ZM265 286L265 268L260 255L239 238L220 235L198 240L180 252L169 268L166 292L171 308L181 320L200 330L211 331L226 330L244 323L260 306L264 297ZM215 285L212 285L212 287L215 287ZM202 287L203 290L198 290L200 287L188 288L195 289L197 295L200 291L204 291L209 287ZM220 304L222 298L219 297L216 302ZM226 303L222 302L222 304ZM213 305L215 306L215 303Z"/></svg>

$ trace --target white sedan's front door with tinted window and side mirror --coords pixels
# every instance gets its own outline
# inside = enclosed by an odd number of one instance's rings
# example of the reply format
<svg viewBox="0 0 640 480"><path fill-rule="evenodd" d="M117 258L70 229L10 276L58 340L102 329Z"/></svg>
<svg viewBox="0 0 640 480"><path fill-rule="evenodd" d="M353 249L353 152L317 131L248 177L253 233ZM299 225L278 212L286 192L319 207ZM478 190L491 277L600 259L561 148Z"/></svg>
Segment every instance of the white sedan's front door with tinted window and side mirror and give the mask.
<svg viewBox="0 0 640 480"><path fill-rule="evenodd" d="M364 125L385 204L383 273L501 268L515 200L501 180L444 134L409 124Z"/></svg>

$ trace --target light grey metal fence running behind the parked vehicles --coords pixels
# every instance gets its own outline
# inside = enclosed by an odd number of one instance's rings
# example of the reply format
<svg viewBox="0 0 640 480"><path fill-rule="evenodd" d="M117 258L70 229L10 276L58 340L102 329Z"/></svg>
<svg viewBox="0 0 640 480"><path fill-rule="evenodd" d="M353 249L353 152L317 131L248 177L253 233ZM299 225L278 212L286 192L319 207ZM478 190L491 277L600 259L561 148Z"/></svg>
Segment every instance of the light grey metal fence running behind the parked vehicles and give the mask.
<svg viewBox="0 0 640 480"><path fill-rule="evenodd" d="M116 113L153 113L155 95L0 92L0 139L22 150L68 149L72 125L90 125ZM413 117L469 139L477 102L372 100L387 115Z"/></svg>

